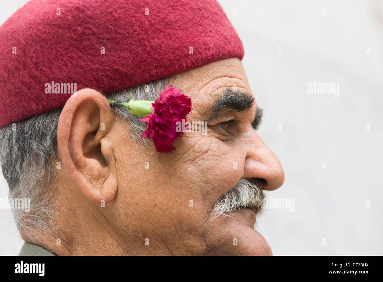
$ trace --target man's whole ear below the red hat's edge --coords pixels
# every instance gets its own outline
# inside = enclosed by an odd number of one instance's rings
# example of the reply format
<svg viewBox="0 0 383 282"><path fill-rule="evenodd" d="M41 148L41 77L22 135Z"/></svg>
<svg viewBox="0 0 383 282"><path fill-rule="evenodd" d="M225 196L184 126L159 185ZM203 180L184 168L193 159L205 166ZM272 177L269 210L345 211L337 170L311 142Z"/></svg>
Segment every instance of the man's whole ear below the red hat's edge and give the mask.
<svg viewBox="0 0 383 282"><path fill-rule="evenodd" d="M69 177L93 203L110 202L117 193L110 130L115 115L108 101L93 89L77 91L59 117L57 143ZM103 153L104 152L104 153Z"/></svg>

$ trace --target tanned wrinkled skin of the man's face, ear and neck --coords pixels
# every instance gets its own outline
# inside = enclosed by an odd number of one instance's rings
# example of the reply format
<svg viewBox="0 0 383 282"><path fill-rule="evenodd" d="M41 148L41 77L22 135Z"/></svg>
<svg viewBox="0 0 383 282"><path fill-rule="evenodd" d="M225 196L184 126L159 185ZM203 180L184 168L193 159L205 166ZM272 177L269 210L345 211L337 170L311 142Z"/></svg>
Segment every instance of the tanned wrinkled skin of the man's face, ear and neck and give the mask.
<svg viewBox="0 0 383 282"><path fill-rule="evenodd" d="M191 97L189 121L207 120L226 87L252 95L237 58L181 73L173 85ZM185 132L173 143L177 150L158 153L152 143L143 148L131 140L103 95L77 92L58 126L62 166L52 185L60 228L41 234L38 244L60 255L272 254L251 209L215 219L211 211L241 178L263 178L265 190L283 184L280 162L252 129L256 107L219 117L206 135ZM217 125L232 118L239 121L234 135Z"/></svg>

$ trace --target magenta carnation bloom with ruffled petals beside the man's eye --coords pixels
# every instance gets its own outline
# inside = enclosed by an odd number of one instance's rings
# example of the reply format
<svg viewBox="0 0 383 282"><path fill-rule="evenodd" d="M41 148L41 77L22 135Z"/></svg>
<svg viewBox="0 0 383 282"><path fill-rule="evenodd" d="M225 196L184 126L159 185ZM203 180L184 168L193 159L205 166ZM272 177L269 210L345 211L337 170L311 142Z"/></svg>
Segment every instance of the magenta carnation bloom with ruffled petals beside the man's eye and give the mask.
<svg viewBox="0 0 383 282"><path fill-rule="evenodd" d="M177 122L181 122L191 111L191 99L181 94L173 85L166 87L160 97L152 103L152 112L142 122L147 122L146 130L141 135L153 139L157 152L167 153L175 150L172 143L181 134L177 132Z"/></svg>

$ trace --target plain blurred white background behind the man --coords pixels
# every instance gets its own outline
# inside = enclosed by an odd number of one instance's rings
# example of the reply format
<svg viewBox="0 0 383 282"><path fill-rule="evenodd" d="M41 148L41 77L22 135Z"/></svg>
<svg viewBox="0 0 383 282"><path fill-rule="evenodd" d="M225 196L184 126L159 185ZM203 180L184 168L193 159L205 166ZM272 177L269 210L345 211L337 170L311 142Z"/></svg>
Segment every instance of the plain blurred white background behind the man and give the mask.
<svg viewBox="0 0 383 282"><path fill-rule="evenodd" d="M1 0L0 22L26 2ZM383 1L219 3L264 109L258 133L285 170L267 195L294 199L292 212L267 209L257 230L274 255L383 255ZM339 83L339 96L308 94L314 81ZM10 209L0 209L0 238L0 255L18 254Z"/></svg>

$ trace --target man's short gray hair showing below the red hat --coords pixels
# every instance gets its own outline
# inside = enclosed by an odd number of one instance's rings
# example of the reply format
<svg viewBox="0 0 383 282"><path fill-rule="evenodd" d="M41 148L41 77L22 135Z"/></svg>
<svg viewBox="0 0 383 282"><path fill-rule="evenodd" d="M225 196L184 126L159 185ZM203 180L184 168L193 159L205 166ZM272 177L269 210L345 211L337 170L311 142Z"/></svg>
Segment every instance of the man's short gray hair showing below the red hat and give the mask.
<svg viewBox="0 0 383 282"><path fill-rule="evenodd" d="M132 99L155 101L159 92L169 85L172 77L162 78L139 86L105 95L108 98L124 101ZM132 115L121 106L112 106L117 118L124 120L131 128L131 136L137 143L145 145L141 139L146 124L140 117ZM51 181L56 175L55 160L57 150L57 124L62 108L35 115L0 129L0 163L9 186L9 198L30 198L31 209L12 209L17 228L38 239L38 233L48 233L56 228L54 221L54 199L56 189Z"/></svg>

